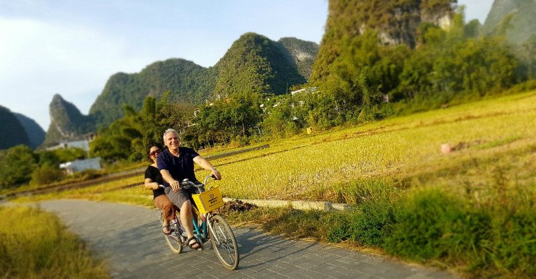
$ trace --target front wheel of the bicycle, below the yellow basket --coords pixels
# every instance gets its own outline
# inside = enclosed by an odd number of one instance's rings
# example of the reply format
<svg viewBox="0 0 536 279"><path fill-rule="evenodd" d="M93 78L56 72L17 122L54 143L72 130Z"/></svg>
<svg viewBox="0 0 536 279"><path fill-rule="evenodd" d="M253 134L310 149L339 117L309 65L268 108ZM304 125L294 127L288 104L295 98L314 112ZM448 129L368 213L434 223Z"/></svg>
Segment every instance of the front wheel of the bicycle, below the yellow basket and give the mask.
<svg viewBox="0 0 536 279"><path fill-rule="evenodd" d="M212 216L210 224L210 242L219 262L222 262L226 269L235 270L238 266L239 255L231 226L219 215Z"/></svg>

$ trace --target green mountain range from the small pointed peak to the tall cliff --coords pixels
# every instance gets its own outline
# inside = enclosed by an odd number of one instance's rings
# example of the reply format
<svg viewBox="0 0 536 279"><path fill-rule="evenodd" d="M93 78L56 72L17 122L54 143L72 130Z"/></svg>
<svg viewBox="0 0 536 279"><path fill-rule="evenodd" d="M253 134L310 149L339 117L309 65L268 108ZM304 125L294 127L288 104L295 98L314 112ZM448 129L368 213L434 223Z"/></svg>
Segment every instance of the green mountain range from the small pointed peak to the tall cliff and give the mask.
<svg viewBox="0 0 536 279"><path fill-rule="evenodd" d="M140 109L147 96L161 98L166 91L171 91L168 101L194 105L241 91L286 93L290 86L307 82L318 49L317 43L297 38L276 42L245 33L209 68L184 59L168 59L152 63L140 73L116 73L87 116L61 96L54 96L44 145L75 140L108 126L124 115L122 105Z"/></svg>

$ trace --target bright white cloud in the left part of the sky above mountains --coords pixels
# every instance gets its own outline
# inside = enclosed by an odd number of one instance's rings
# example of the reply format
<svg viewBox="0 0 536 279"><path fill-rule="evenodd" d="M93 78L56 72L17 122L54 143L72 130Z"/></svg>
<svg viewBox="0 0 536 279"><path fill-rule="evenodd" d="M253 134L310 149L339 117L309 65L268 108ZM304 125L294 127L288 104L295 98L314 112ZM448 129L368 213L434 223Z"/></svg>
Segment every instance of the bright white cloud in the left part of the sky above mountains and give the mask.
<svg viewBox="0 0 536 279"><path fill-rule="evenodd" d="M0 105L45 130L55 93L87 113L110 75L138 72L152 61L131 57L120 37L36 20L0 18L0 42Z"/></svg>

